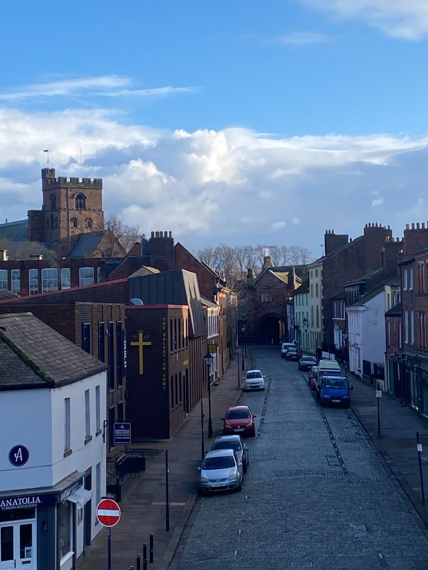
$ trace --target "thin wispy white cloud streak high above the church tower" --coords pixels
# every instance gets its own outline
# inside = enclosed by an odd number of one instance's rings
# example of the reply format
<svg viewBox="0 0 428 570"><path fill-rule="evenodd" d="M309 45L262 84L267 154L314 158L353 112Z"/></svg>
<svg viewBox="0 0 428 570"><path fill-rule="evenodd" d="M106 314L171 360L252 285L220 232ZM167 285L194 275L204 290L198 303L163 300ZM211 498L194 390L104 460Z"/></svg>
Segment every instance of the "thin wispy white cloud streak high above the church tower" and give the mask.
<svg viewBox="0 0 428 570"><path fill-rule="evenodd" d="M24 100L30 97L58 97L98 95L108 97L167 96L172 93L194 91L194 87L156 87L152 89L130 89L131 80L118 75L101 75L98 77L61 79L50 83L32 83L19 88L19 91L0 93L0 100ZM124 88L128 87L128 88Z"/></svg>

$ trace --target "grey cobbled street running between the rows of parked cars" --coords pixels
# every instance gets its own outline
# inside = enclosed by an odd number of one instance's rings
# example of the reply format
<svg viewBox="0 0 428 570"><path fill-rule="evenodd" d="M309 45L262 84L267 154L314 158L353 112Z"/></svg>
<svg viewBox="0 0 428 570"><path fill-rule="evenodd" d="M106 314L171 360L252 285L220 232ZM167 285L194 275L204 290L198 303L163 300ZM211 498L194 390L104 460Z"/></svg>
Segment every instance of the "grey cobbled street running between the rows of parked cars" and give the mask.
<svg viewBox="0 0 428 570"><path fill-rule="evenodd" d="M179 570L428 568L428 540L348 409L319 408L279 348L252 349L266 391L241 492L197 499ZM351 393L352 399L352 393Z"/></svg>

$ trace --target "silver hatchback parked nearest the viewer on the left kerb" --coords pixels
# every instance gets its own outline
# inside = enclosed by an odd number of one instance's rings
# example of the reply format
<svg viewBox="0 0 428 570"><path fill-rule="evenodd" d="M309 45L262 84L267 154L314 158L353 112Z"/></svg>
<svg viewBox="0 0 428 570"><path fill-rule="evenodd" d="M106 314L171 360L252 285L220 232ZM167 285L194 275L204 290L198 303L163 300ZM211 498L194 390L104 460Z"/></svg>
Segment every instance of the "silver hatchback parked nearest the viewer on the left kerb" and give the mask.
<svg viewBox="0 0 428 570"><path fill-rule="evenodd" d="M217 449L205 455L199 476L201 491L225 491L236 489L241 491L244 474L242 463L233 449Z"/></svg>

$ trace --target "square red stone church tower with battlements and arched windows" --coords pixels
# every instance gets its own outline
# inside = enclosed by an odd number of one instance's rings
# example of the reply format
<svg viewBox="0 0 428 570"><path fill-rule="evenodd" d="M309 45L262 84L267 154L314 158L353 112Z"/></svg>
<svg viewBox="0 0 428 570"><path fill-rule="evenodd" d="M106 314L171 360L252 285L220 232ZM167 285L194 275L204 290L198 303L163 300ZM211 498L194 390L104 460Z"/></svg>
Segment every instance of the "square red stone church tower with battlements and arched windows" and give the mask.
<svg viewBox="0 0 428 570"><path fill-rule="evenodd" d="M67 257L81 234L104 230L102 179L55 177L42 169L42 210L28 210L28 239L50 242Z"/></svg>

